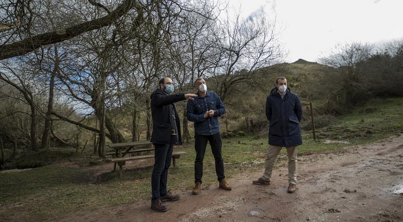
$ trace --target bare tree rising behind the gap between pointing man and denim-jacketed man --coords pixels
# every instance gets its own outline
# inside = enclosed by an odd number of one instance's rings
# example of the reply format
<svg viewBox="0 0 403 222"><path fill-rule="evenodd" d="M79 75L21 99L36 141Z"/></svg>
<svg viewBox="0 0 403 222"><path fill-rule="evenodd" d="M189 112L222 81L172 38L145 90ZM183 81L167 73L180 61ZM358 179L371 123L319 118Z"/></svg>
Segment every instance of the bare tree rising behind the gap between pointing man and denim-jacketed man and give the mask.
<svg viewBox="0 0 403 222"><path fill-rule="evenodd" d="M213 8L205 8L204 16L188 13L186 19L176 24L175 34L166 47L169 49L170 76L176 81L179 91L194 91L195 79L209 75L218 65L215 58L217 52L213 30L217 26ZM207 13L208 12L208 13ZM186 117L185 102L177 103L183 110L183 139L188 141L190 137L188 121Z"/></svg>

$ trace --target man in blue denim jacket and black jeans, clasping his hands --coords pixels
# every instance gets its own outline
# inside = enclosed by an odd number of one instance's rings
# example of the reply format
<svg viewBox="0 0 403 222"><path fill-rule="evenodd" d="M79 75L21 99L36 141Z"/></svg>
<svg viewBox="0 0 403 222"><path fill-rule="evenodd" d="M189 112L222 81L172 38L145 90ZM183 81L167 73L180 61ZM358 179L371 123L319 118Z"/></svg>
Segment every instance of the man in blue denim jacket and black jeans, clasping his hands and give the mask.
<svg viewBox="0 0 403 222"><path fill-rule="evenodd" d="M207 91L206 82L203 78L195 81L197 97L188 100L186 112L187 119L194 122L195 127L195 188L193 194L199 194L202 186L203 158L207 142L210 143L211 151L216 162L216 174L219 187L224 190L231 190L231 186L225 181L224 162L221 157L221 135L218 117L225 113L224 104L220 96L214 92Z"/></svg>

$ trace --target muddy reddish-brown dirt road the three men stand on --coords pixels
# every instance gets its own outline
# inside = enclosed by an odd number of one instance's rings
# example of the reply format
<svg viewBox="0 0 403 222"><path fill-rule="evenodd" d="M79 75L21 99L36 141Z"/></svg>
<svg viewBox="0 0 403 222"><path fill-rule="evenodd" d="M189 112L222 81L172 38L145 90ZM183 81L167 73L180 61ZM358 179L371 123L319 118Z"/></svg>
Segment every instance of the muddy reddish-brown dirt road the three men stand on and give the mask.
<svg viewBox="0 0 403 222"><path fill-rule="evenodd" d="M64 221L403 221L403 135L340 154L298 159L298 185L287 193L287 164L271 185L252 185L262 169L229 179L232 191L210 186L157 213L149 200L79 212ZM398 190L398 191L396 191ZM395 192L395 193L394 193Z"/></svg>

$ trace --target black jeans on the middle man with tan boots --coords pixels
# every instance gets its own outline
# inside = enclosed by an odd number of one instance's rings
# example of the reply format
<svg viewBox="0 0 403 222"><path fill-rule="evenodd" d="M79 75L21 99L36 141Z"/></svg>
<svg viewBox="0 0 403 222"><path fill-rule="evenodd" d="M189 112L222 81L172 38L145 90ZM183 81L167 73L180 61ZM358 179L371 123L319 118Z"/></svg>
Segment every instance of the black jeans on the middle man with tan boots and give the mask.
<svg viewBox="0 0 403 222"><path fill-rule="evenodd" d="M218 181L225 178L224 175L224 162L221 157L221 135L220 132L214 135L199 135L195 133L195 150L196 150L196 160L195 160L195 183L202 183L203 176L203 159L204 153L206 151L207 142L210 143L211 152L213 153L214 159L216 161L216 174Z"/></svg>

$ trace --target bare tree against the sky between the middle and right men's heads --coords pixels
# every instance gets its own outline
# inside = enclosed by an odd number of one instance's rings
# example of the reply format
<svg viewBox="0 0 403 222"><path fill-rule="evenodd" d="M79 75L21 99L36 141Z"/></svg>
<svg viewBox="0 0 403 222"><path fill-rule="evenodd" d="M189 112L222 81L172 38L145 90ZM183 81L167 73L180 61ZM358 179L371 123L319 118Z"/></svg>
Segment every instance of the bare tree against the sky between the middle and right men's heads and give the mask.
<svg viewBox="0 0 403 222"><path fill-rule="evenodd" d="M239 14L232 21L230 16L218 24L214 33L220 49L214 70L215 88L221 100L240 83L250 83L257 70L278 63L285 56L278 41L275 20L265 14L242 19Z"/></svg>

